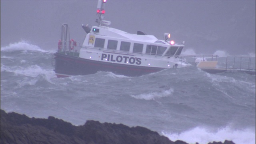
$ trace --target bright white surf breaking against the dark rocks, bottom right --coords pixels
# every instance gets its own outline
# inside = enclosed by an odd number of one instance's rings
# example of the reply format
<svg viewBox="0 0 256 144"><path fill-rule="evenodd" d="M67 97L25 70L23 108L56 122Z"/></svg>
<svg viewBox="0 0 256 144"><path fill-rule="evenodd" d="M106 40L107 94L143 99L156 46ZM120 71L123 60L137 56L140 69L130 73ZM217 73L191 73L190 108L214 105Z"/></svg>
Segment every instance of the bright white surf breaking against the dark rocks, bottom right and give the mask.
<svg viewBox="0 0 256 144"><path fill-rule="evenodd" d="M182 140L184 142L194 144L207 144L209 142L224 142L232 140L236 144L255 144L255 129L232 130L230 127L220 128L212 131L207 128L196 127L180 134L172 132L162 132L172 141Z"/></svg>

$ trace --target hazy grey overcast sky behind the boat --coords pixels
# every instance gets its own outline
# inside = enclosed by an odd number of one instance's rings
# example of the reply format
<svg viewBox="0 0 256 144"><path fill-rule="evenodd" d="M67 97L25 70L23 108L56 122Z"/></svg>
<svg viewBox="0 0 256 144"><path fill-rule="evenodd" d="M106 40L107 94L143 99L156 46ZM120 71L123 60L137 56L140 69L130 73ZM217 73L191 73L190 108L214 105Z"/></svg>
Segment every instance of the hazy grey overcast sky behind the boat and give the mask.
<svg viewBox="0 0 256 144"><path fill-rule="evenodd" d="M96 25L98 0L1 0L1 47L20 40L44 50L57 49L63 23L82 42L82 24ZM232 55L256 49L255 0L108 0L105 20L129 33L138 30L185 41L196 54L223 50Z"/></svg>

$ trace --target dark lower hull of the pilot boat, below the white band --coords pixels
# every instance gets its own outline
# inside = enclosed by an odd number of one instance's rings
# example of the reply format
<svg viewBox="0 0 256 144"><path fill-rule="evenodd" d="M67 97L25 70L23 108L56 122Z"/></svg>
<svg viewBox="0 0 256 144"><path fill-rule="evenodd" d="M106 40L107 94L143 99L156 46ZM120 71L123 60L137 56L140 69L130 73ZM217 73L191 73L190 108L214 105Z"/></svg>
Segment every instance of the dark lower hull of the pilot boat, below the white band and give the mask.
<svg viewBox="0 0 256 144"><path fill-rule="evenodd" d="M54 55L57 77L95 74L99 71L113 72L124 76L142 76L165 69L88 60L57 52Z"/></svg>

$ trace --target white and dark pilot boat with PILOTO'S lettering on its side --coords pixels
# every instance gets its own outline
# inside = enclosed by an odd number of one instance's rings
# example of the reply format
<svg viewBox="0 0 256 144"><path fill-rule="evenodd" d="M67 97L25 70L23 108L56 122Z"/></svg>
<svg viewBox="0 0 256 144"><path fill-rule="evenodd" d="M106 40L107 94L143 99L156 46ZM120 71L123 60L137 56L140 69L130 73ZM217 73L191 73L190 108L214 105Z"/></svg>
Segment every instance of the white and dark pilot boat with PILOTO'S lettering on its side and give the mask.
<svg viewBox="0 0 256 144"><path fill-rule="evenodd" d="M54 53L55 74L59 77L112 72L142 76L168 68L192 66L179 58L184 42L178 44L164 33L163 40L138 31L130 34L111 28L104 20L106 0L98 0L96 26L82 24L83 43L70 39L68 24L62 24L58 51Z"/></svg>

